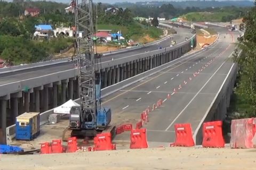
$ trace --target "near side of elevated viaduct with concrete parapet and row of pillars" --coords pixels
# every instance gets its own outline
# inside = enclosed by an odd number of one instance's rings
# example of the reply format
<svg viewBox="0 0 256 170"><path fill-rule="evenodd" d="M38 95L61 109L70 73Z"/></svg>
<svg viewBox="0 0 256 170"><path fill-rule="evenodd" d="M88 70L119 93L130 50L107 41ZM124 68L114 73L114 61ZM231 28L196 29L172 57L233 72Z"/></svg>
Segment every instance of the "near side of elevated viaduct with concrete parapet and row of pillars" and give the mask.
<svg viewBox="0 0 256 170"><path fill-rule="evenodd" d="M195 46L194 35L173 47L101 62L102 88L173 61ZM65 66L61 66L61 69L65 69ZM68 99L77 99L78 92L77 70L74 69L74 65L72 67L67 65L63 71L57 71L56 67L38 68L36 71L22 73L22 77L15 74L6 77L3 75L3 78L0 78L3 136L5 137L6 126L13 124L17 115L24 112L47 111L65 103Z"/></svg>

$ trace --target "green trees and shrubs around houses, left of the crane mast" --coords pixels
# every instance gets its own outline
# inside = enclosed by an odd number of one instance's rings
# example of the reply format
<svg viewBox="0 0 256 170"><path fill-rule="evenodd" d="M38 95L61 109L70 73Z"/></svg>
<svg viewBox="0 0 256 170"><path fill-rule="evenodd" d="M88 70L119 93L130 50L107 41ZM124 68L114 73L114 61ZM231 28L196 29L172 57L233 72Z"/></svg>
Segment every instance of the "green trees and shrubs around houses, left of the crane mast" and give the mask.
<svg viewBox="0 0 256 170"><path fill-rule="evenodd" d="M36 24L51 24L53 28L60 25L74 25L74 14L66 13L68 4L14 0L12 3L0 2L0 58L14 64L30 63L42 60L61 49L67 48L73 40L54 38L50 40L33 40ZM39 8L36 16L24 16L26 8Z"/></svg>

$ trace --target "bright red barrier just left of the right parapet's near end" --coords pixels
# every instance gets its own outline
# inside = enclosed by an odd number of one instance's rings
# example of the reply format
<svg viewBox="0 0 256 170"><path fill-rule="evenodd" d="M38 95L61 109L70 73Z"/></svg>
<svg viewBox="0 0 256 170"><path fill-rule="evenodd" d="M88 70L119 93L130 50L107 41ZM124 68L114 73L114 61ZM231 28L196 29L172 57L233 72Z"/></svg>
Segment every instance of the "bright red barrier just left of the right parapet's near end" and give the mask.
<svg viewBox="0 0 256 170"><path fill-rule="evenodd" d="M191 124L185 123L185 124L175 124L175 135L176 139L174 142L174 146L179 147L192 147L195 146L193 137L192 137L192 130L191 130Z"/></svg>

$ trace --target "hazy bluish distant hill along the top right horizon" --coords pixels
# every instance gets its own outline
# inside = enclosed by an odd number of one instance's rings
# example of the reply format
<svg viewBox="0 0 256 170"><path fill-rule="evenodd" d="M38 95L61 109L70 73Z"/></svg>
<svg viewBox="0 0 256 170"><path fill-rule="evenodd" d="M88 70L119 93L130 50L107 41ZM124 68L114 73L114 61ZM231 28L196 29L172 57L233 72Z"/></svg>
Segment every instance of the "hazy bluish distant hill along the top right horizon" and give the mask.
<svg viewBox="0 0 256 170"><path fill-rule="evenodd" d="M119 7L130 7L130 6L161 6L163 4L172 4L175 8L186 8L186 7L199 7L199 8L206 8L206 7L223 7L223 6L239 6L239 7L246 7L246 6L253 6L252 1L151 1L151 2L122 2L122 3L115 3L115 5Z"/></svg>

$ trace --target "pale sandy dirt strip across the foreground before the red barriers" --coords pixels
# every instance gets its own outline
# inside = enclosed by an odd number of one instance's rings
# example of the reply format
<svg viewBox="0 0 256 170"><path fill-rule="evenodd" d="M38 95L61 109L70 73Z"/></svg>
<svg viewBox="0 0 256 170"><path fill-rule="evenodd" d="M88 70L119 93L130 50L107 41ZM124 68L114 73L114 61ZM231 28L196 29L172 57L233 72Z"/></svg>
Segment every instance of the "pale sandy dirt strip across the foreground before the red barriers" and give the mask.
<svg viewBox="0 0 256 170"><path fill-rule="evenodd" d="M0 169L255 169L256 149L150 148L49 155L1 155Z"/></svg>

